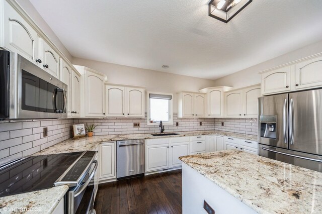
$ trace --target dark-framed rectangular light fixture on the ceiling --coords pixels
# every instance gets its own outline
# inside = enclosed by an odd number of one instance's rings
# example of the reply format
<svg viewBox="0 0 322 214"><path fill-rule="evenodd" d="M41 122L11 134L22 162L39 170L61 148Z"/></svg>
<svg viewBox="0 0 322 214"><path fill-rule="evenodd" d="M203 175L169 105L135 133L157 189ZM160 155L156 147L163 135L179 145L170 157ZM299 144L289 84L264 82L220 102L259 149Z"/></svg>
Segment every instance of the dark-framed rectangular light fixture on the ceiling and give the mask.
<svg viewBox="0 0 322 214"><path fill-rule="evenodd" d="M211 0L208 4L209 16L227 23L253 0Z"/></svg>

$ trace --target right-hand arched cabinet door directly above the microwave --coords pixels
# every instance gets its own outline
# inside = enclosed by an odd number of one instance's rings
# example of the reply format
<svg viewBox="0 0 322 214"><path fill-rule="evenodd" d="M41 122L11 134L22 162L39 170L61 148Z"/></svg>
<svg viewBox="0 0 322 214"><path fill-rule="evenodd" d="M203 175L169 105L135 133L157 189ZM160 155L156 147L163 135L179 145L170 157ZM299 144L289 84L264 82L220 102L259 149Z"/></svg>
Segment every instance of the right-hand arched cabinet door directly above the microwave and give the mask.
<svg viewBox="0 0 322 214"><path fill-rule="evenodd" d="M43 40L41 47L43 69L59 79L59 55Z"/></svg>

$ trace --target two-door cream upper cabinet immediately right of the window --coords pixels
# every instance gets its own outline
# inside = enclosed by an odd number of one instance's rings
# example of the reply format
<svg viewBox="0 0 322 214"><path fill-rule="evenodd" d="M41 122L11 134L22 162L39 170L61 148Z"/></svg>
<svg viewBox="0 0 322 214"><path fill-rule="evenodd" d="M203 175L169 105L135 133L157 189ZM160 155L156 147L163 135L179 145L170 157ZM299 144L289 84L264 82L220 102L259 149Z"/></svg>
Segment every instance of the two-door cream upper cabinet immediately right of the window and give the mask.
<svg viewBox="0 0 322 214"><path fill-rule="evenodd" d="M194 92L178 93L178 118L205 117L206 94Z"/></svg>

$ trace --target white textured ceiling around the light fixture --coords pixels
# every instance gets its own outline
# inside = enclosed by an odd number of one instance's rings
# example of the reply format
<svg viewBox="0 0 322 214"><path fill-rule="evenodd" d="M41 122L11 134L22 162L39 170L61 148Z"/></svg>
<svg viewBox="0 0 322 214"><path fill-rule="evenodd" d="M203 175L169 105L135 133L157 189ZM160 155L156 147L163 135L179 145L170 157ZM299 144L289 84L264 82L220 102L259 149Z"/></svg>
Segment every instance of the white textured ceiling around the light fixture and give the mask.
<svg viewBox="0 0 322 214"><path fill-rule="evenodd" d="M321 0L254 0L227 24L209 1L30 0L74 57L201 78L322 39Z"/></svg>

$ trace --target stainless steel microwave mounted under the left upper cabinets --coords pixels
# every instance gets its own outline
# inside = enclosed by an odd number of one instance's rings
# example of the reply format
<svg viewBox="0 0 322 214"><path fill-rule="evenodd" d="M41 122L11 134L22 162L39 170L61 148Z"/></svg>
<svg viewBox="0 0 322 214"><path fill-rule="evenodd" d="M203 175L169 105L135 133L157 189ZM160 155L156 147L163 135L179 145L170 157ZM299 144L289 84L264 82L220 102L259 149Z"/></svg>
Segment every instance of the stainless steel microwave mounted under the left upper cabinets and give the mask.
<svg viewBox="0 0 322 214"><path fill-rule="evenodd" d="M0 120L67 117L67 85L17 53L0 50Z"/></svg>

